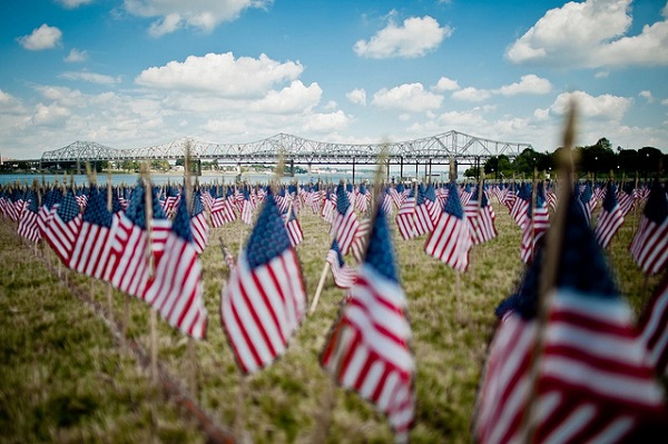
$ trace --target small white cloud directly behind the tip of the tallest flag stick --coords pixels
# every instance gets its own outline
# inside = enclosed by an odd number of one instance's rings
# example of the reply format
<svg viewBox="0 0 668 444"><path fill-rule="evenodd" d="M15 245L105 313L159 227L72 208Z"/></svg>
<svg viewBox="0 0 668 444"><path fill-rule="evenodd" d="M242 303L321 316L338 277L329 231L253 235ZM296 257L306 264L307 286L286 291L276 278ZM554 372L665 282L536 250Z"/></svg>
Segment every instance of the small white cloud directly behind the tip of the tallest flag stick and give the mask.
<svg viewBox="0 0 668 444"><path fill-rule="evenodd" d="M599 118L615 122L621 120L633 102L633 99L626 97L612 95L593 97L584 91L573 91L560 93L550 107L550 111L563 115L572 99L578 103L579 112L583 118Z"/></svg>

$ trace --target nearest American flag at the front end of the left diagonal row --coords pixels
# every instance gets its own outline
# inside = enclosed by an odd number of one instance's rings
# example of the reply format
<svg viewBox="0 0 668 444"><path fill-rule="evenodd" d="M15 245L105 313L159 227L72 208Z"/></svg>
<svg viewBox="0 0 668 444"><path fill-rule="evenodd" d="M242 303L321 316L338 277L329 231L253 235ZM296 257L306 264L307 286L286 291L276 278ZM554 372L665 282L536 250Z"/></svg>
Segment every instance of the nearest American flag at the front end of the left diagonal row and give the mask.
<svg viewBox="0 0 668 444"><path fill-rule="evenodd" d="M188 207L186 200L180 199L165 253L144 298L170 326L203 339L206 336L207 314L202 288L202 264L193 240Z"/></svg>

